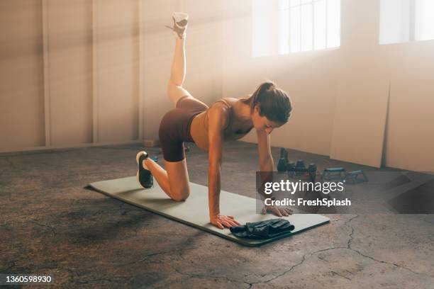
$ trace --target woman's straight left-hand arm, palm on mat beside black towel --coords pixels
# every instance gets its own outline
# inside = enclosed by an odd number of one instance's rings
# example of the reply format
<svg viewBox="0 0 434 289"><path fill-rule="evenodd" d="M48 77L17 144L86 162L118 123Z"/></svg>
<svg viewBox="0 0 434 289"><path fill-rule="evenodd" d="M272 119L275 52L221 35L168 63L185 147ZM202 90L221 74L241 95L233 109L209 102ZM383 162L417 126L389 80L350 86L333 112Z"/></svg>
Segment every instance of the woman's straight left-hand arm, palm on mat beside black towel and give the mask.
<svg viewBox="0 0 434 289"><path fill-rule="evenodd" d="M208 206L211 224L223 227L238 226L233 216L220 215L221 159L223 130L228 121L226 108L214 105L208 110Z"/></svg>

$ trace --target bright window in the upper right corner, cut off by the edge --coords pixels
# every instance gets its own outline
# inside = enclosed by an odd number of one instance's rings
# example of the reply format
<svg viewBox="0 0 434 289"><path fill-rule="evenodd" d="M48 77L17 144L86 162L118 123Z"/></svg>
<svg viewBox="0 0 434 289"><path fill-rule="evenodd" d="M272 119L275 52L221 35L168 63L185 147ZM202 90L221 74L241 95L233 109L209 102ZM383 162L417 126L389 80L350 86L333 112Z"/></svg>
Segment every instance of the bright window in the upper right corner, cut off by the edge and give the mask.
<svg viewBox="0 0 434 289"><path fill-rule="evenodd" d="M434 39L433 0L382 0L379 43Z"/></svg>

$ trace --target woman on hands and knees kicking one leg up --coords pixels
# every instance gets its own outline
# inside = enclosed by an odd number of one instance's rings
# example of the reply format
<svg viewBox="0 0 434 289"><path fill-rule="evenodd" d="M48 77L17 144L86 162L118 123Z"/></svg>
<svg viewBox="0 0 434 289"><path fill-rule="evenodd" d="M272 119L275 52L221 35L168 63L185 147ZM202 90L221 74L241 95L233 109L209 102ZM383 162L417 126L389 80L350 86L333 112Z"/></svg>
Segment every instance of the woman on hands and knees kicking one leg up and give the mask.
<svg viewBox="0 0 434 289"><path fill-rule="evenodd" d="M199 101L182 87L186 64L184 40L188 23L186 13L174 13L173 30L176 38L172 71L167 94L175 108L162 118L160 145L165 159L165 169L148 158L146 152L136 156L138 181L144 188L152 186L152 176L172 200L189 197L189 174L184 153L184 142L194 142L208 151L208 206L211 224L223 229L240 225L233 216L221 215L221 162L223 141L238 140L252 128L257 132L260 171L273 171L274 164L269 145L269 134L284 125L291 114L291 101L284 91L272 82L261 84L245 98L222 98L211 107ZM262 210L278 216L289 215L286 208L267 207Z"/></svg>

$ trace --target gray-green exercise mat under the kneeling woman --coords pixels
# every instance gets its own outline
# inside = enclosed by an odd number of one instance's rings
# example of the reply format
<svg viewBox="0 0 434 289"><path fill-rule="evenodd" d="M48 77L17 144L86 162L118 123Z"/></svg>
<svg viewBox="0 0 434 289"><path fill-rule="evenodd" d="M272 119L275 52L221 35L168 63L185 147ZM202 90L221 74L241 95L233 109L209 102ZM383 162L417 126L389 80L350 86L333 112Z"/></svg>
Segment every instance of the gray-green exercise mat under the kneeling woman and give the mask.
<svg viewBox="0 0 434 289"><path fill-rule="evenodd" d="M153 188L141 188L135 176L109 181L98 181L90 183L89 186L107 196L117 198L131 205L150 210L151 212L183 222L184 224L191 225L198 229L203 229L206 232L216 234L245 246L260 246L330 222L330 219L323 215L294 214L289 217L284 217L295 226L295 229L291 233L284 234L274 239L244 239L234 236L230 233L229 229L218 229L209 223L208 188L206 186L190 183L190 196L184 202L175 202L169 199L156 181L154 181ZM234 215L235 220L243 225L246 222L257 222L276 217L272 214L257 214L255 198L221 191L220 203L221 212L225 215Z"/></svg>

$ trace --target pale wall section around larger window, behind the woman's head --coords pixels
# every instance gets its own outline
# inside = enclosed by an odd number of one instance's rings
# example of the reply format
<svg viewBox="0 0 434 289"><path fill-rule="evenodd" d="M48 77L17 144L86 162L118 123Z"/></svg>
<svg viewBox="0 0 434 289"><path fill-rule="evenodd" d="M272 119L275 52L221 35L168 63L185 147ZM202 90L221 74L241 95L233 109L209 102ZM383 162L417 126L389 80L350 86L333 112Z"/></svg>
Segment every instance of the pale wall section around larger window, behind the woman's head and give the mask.
<svg viewBox="0 0 434 289"><path fill-rule="evenodd" d="M225 2L223 95L245 96L266 79L275 81L291 97L294 111L289 123L272 133L272 145L328 155L340 51L252 58L251 3ZM244 140L256 142L255 132Z"/></svg>

